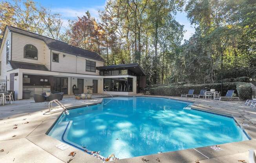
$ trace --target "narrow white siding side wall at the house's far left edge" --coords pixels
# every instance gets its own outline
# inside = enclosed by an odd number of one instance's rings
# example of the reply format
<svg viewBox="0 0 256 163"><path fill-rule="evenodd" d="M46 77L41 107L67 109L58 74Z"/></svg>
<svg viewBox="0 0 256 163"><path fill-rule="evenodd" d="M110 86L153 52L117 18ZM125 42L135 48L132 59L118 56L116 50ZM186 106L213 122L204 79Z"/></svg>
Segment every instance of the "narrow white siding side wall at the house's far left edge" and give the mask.
<svg viewBox="0 0 256 163"><path fill-rule="evenodd" d="M5 80L6 79L6 72L11 70L11 65L9 63L6 64L6 42L9 40L10 42L10 51L9 51L9 57L11 57L11 32L9 29L6 29L6 37L3 38L2 41L2 49L0 49L0 61L1 61L1 76L0 80Z"/></svg>

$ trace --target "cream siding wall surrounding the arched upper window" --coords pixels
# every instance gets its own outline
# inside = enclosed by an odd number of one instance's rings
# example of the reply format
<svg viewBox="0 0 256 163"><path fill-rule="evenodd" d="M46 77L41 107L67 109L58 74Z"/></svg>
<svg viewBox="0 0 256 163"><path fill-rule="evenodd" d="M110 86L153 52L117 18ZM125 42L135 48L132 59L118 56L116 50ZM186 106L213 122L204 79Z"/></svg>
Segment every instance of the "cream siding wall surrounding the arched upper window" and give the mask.
<svg viewBox="0 0 256 163"><path fill-rule="evenodd" d="M24 58L24 46L27 44L31 44L37 47L38 60ZM46 48L48 49L47 45L42 40L38 40L36 38L32 38L22 34L13 33L13 61L37 63L44 65L44 54Z"/></svg>

